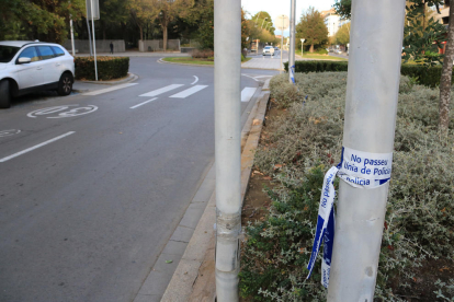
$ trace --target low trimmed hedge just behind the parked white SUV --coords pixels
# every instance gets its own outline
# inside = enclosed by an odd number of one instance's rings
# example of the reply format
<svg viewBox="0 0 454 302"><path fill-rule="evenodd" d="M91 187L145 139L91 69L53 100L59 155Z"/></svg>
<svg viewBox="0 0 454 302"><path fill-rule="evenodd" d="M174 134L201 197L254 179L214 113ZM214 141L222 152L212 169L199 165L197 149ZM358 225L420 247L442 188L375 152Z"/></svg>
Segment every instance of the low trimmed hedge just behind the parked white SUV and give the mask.
<svg viewBox="0 0 454 302"><path fill-rule="evenodd" d="M129 70L129 57L98 57L97 62L101 81L124 78ZM77 80L95 80L93 57L77 57L75 67Z"/></svg>

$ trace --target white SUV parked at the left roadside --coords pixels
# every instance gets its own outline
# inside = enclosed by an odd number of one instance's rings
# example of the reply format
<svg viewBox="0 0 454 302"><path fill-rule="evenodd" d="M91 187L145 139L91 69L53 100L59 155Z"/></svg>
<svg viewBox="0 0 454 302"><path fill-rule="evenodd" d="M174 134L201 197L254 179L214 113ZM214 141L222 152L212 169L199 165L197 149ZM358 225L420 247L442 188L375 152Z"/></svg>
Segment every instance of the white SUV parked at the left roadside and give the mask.
<svg viewBox="0 0 454 302"><path fill-rule="evenodd" d="M72 91L75 59L58 44L0 42L0 108L11 106L11 97L38 90Z"/></svg>

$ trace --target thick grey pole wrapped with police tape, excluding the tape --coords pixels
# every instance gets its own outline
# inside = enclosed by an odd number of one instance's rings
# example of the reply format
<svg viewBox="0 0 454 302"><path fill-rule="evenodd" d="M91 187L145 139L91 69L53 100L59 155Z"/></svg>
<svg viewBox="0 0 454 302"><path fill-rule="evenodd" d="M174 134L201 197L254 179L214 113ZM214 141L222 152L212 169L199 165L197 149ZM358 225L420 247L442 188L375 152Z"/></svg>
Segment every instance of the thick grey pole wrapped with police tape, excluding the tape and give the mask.
<svg viewBox="0 0 454 302"><path fill-rule="evenodd" d="M391 153L405 0L352 1L343 146ZM340 182L329 302L372 302L389 183L354 188Z"/></svg>

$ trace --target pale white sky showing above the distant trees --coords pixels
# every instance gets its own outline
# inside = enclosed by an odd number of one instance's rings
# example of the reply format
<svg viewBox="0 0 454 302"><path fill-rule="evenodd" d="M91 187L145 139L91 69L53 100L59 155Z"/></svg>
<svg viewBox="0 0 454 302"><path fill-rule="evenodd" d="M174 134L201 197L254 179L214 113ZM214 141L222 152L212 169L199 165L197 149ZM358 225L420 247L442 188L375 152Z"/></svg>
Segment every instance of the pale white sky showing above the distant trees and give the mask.
<svg viewBox="0 0 454 302"><path fill-rule="evenodd" d="M307 10L309 7L314 7L318 11L327 11L331 9L336 0L296 0L296 23L298 23L303 11ZM242 9L250 14L254 15L260 11L268 12L274 20L277 15L285 14L290 16L291 0L241 0ZM250 19L249 15L247 15ZM280 31L275 31L274 34L280 35ZM288 36L288 30L284 31L284 36Z"/></svg>

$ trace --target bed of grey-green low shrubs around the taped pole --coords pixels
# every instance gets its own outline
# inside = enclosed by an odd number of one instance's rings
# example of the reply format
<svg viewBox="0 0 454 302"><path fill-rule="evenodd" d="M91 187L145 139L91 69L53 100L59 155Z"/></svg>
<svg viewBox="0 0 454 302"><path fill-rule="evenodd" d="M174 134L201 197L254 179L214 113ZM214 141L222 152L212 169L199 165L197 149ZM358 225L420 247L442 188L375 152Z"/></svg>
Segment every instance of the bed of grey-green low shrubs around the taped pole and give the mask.
<svg viewBox="0 0 454 302"><path fill-rule="evenodd" d="M347 72L297 73L296 83L286 74L270 82L277 114L268 117L254 169L273 179L264 188L272 202L245 225L246 301L326 301L321 255L309 280L306 266L324 175L340 160ZM376 301L454 300L454 120L451 111L440 137L439 98L401 77Z"/></svg>

